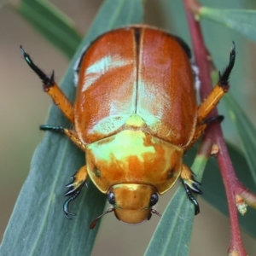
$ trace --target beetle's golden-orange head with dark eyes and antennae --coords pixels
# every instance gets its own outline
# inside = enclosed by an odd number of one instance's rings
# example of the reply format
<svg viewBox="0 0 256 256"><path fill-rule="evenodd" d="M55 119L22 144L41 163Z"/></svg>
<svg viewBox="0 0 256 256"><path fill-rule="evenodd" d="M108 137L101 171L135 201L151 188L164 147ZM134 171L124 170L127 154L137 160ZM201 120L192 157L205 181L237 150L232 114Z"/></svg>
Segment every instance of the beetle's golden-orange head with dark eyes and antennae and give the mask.
<svg viewBox="0 0 256 256"><path fill-rule="evenodd" d="M113 206L104 212L114 212L116 218L125 224L141 224L151 218L152 213L160 216L152 207L157 203L158 195L154 187L147 184L121 183L113 185L108 191L108 202ZM90 225L94 228L99 216Z"/></svg>

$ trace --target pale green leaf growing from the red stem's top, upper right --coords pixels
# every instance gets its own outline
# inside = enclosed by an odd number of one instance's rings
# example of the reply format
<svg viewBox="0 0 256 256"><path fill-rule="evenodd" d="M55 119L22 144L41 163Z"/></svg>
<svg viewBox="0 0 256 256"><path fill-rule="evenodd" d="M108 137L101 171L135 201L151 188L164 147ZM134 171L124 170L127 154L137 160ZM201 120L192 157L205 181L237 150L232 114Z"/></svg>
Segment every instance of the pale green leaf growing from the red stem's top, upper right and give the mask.
<svg viewBox="0 0 256 256"><path fill-rule="evenodd" d="M256 11L245 9L212 9L202 7L199 15L230 27L256 42Z"/></svg>

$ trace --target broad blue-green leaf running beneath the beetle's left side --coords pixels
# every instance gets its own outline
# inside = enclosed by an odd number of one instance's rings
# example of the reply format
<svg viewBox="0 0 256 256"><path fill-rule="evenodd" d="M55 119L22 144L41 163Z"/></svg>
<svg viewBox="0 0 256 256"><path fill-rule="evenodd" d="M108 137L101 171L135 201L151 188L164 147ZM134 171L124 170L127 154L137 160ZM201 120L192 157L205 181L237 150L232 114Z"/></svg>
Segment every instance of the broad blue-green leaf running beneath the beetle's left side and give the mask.
<svg viewBox="0 0 256 256"><path fill-rule="evenodd" d="M61 83L61 89L71 100L75 96L73 67L84 46L115 26L142 20L142 1L108 0L102 5ZM46 123L70 126L56 106L50 108ZM64 185L83 165L84 154L67 137L46 132L33 155L31 170L3 236L1 255L90 255L99 223L94 230L89 230L89 226L102 213L106 195L89 182L89 188L84 188L71 206L78 216L70 221L62 212Z"/></svg>

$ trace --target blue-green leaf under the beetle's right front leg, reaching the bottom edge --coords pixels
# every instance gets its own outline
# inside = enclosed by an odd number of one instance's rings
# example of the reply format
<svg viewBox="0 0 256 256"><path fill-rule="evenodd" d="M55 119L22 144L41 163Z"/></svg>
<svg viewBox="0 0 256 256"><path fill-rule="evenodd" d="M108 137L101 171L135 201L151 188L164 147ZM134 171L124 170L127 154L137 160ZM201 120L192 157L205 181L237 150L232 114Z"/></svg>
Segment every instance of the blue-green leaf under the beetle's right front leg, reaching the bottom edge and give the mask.
<svg viewBox="0 0 256 256"><path fill-rule="evenodd" d="M196 180L199 182L206 164L207 159L198 155L193 166L191 166L196 174ZM156 230L154 230L154 235L148 244L145 256L189 255L194 218L195 206L189 201L183 185L180 185L160 218Z"/></svg>

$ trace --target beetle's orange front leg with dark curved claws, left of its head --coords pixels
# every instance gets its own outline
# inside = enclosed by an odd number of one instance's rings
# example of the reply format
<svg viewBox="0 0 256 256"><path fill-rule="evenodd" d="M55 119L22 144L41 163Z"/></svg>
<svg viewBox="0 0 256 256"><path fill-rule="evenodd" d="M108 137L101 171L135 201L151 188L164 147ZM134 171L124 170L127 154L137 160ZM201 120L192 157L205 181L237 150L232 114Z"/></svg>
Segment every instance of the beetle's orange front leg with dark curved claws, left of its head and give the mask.
<svg viewBox="0 0 256 256"><path fill-rule="evenodd" d="M70 196L67 201L64 202L63 211L67 218L70 218L69 215L76 215L73 212L69 212L68 206L71 201L74 201L80 194L81 190L86 183L86 179L88 177L88 172L86 166L82 166L78 172L76 172L73 177L73 181L67 184L67 192L64 194L65 196Z"/></svg>

